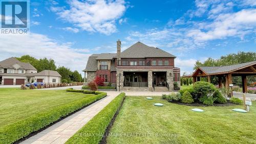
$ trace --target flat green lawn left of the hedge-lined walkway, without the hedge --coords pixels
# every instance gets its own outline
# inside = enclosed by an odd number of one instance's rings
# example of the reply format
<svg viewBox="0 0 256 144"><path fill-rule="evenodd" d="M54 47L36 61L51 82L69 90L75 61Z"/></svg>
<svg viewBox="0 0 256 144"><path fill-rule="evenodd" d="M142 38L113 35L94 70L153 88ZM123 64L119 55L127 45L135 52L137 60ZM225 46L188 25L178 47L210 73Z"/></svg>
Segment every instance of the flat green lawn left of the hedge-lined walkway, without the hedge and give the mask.
<svg viewBox="0 0 256 144"><path fill-rule="evenodd" d="M94 94L66 90L0 88L0 129L29 116ZM91 97L90 96L90 97Z"/></svg>

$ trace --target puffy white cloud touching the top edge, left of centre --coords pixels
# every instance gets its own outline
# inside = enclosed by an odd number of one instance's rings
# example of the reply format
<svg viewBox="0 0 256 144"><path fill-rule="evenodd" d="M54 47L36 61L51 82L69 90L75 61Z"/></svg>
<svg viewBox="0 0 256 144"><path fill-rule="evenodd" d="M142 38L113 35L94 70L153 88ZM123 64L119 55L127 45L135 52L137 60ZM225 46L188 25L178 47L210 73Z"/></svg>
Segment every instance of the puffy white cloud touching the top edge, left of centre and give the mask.
<svg viewBox="0 0 256 144"><path fill-rule="evenodd" d="M115 20L120 18L125 11L125 2L116 1L69 1L69 9L51 7L53 12L62 20L89 32L99 32L110 35L116 32Z"/></svg>

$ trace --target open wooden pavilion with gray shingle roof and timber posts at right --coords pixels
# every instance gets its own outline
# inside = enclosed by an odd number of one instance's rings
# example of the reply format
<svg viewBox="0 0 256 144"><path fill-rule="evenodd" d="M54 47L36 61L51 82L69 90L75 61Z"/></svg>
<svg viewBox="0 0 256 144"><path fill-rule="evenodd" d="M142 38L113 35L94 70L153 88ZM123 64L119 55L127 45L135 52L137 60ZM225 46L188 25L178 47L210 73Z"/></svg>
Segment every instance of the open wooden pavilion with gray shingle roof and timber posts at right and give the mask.
<svg viewBox="0 0 256 144"><path fill-rule="evenodd" d="M201 66L192 75L184 77L193 77L193 83L200 81L201 77L206 77L209 83L211 77L218 77L219 87L222 87L222 83L229 87L232 84L232 77L241 76L243 93L247 93L246 77L251 75L256 75L256 61L228 66Z"/></svg>

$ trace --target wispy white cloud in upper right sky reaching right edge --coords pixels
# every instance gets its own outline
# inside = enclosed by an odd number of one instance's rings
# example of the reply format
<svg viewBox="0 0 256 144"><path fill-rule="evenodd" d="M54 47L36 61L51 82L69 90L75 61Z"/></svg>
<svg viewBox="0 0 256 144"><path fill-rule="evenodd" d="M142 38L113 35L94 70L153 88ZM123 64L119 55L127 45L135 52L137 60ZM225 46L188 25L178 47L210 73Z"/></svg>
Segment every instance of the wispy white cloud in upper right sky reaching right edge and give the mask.
<svg viewBox="0 0 256 144"><path fill-rule="evenodd" d="M243 38L256 27L256 9L245 9L236 13L220 14L205 25L204 29L189 30L187 36L195 40L214 40L230 36ZM206 30L206 31L205 31Z"/></svg>

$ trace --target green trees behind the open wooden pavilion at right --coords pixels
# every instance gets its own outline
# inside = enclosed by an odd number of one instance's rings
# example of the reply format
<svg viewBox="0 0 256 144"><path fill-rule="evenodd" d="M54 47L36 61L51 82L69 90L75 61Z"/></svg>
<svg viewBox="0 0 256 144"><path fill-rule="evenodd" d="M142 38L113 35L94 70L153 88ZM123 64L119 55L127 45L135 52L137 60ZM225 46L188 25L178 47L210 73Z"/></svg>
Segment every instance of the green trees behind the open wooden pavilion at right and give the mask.
<svg viewBox="0 0 256 144"><path fill-rule="evenodd" d="M239 63L245 63L256 60L255 52L238 52L228 54L226 56L221 56L219 59L208 58L204 62L197 61L194 69L197 69L199 66L226 66ZM203 81L207 81L207 78L201 78ZM248 84L256 81L256 76L247 76ZM211 83L218 84L218 78L212 78ZM232 83L234 85L242 86L241 77L232 77Z"/></svg>

